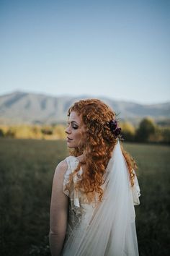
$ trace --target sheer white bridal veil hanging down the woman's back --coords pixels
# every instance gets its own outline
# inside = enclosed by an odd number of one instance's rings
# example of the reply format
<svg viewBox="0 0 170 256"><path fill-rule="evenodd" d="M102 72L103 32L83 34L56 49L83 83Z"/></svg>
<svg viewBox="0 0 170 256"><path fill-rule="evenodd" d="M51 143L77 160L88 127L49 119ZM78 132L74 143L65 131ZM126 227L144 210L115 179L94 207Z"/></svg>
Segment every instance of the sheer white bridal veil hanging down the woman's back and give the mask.
<svg viewBox="0 0 170 256"><path fill-rule="evenodd" d="M104 174L102 202L74 227L63 256L138 256L135 208L140 188L131 187L128 166L118 141Z"/></svg>

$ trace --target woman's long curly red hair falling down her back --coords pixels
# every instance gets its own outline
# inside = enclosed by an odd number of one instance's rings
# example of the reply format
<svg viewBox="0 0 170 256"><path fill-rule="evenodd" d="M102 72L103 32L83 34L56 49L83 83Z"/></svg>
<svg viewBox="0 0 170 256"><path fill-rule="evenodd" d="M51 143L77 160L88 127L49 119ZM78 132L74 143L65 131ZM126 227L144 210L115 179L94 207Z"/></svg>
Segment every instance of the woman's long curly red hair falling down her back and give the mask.
<svg viewBox="0 0 170 256"><path fill-rule="evenodd" d="M94 199L95 192L98 193L99 201L101 201L103 195L101 186L104 184L103 175L109 159L112 157L112 150L117 143L117 137L112 134L107 122L115 119L116 114L99 99L77 101L68 109L68 116L70 116L71 111L75 111L81 117L86 129L85 134L82 135L85 137L84 143L71 152L71 155L76 157L84 153L86 159L86 170L81 175L81 179L79 179L75 188L84 192L89 202ZM133 169L135 170L137 166L135 160L129 153L125 152L122 145L121 149L128 165L130 182L133 187L135 177ZM73 171L70 181L73 175L77 175L81 164L83 162L79 162L77 168Z"/></svg>

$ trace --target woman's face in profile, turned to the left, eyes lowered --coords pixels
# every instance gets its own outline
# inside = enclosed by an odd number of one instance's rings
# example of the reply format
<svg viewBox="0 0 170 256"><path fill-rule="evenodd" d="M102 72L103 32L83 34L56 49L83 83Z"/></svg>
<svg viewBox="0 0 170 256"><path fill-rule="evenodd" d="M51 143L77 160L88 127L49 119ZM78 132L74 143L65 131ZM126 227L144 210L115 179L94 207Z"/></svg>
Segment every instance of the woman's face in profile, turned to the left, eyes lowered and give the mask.
<svg viewBox="0 0 170 256"><path fill-rule="evenodd" d="M68 127L66 128L67 145L68 148L78 148L84 144L83 134L85 132L85 126L81 117L76 114L75 111L71 111L68 117Z"/></svg>

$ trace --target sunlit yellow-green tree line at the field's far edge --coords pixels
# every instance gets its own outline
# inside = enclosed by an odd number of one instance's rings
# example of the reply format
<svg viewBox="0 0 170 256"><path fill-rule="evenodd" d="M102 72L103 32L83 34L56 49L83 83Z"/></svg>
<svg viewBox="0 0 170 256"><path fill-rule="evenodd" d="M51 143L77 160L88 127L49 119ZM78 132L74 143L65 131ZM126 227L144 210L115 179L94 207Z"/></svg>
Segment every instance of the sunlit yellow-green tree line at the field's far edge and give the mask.
<svg viewBox="0 0 170 256"><path fill-rule="evenodd" d="M127 142L170 142L170 127L161 127L151 118L144 118L135 127L129 121L120 121L122 138ZM66 126L53 125L28 125L0 126L0 137L14 137L22 139L63 140Z"/></svg>

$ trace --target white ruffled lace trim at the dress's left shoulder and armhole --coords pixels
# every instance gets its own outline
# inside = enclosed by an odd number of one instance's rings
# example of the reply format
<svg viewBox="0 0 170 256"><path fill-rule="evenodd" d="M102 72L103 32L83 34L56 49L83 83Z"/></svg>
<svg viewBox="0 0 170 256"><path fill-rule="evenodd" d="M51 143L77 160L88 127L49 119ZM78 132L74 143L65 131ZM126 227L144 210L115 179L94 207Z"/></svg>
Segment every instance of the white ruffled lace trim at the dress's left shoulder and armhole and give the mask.
<svg viewBox="0 0 170 256"><path fill-rule="evenodd" d="M73 176L73 179L71 180L70 189L68 190L66 188L66 185L70 182L70 174L73 173L73 171L76 169L76 167L79 164L79 161L76 157L70 155L68 158L66 158L68 169L66 171L66 174L64 176L63 181L63 192L70 197L71 200L71 210L73 210L76 213L76 216L79 218L79 221L81 221L81 215L83 212L83 208L81 207L81 192L79 190L75 189L76 182L79 180L78 175L81 176L82 174L82 168L77 172L76 175Z"/></svg>

